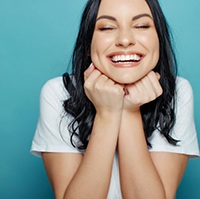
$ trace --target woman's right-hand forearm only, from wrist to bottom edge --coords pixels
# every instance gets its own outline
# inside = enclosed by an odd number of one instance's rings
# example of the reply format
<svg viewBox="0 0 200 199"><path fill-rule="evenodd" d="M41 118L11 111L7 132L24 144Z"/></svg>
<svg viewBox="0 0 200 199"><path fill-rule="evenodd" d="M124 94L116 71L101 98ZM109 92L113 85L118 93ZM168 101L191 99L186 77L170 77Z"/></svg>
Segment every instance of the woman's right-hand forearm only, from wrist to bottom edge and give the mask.
<svg viewBox="0 0 200 199"><path fill-rule="evenodd" d="M164 187L147 149L139 111L123 113L118 150L123 198L164 199Z"/></svg>

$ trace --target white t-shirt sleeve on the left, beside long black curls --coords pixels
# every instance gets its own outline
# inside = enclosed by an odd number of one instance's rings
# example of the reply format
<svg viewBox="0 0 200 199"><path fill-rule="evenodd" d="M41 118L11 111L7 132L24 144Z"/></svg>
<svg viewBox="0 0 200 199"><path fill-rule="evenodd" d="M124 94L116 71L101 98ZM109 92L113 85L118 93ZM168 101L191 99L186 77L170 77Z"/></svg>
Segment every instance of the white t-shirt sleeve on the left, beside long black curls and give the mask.
<svg viewBox="0 0 200 199"><path fill-rule="evenodd" d="M71 118L65 114L63 102L68 97L62 77L49 80L42 87L40 115L31 146L32 154L41 156L41 152L79 152L72 146L67 128Z"/></svg>

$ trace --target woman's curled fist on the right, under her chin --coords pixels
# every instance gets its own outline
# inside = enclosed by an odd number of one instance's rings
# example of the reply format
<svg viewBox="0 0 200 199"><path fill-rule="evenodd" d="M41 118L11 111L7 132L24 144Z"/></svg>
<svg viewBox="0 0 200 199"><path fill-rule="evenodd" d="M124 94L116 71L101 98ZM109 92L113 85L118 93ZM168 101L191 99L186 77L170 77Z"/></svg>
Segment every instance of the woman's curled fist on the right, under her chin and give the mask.
<svg viewBox="0 0 200 199"><path fill-rule="evenodd" d="M124 87L124 109L138 111L141 105L159 97L162 94L159 79L160 75L151 71L139 81L126 85Z"/></svg>

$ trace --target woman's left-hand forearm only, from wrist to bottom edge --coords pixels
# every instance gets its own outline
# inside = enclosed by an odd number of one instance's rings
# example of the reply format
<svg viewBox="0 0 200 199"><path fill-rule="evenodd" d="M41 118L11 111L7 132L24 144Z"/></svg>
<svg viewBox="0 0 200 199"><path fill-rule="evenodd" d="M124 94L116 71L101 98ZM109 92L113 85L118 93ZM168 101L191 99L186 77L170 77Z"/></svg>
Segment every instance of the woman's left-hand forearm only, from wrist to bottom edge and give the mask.
<svg viewBox="0 0 200 199"><path fill-rule="evenodd" d="M87 150L64 198L107 197L120 119L120 116L96 115Z"/></svg>

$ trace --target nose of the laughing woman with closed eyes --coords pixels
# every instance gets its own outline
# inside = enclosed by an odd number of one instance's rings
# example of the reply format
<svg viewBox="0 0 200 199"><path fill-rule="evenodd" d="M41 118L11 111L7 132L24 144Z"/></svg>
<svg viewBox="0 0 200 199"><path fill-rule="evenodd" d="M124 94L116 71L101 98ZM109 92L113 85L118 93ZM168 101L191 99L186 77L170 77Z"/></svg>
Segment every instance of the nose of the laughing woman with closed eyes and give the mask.
<svg viewBox="0 0 200 199"><path fill-rule="evenodd" d="M131 30L121 30L116 38L116 46L127 48L135 44L135 38Z"/></svg>

